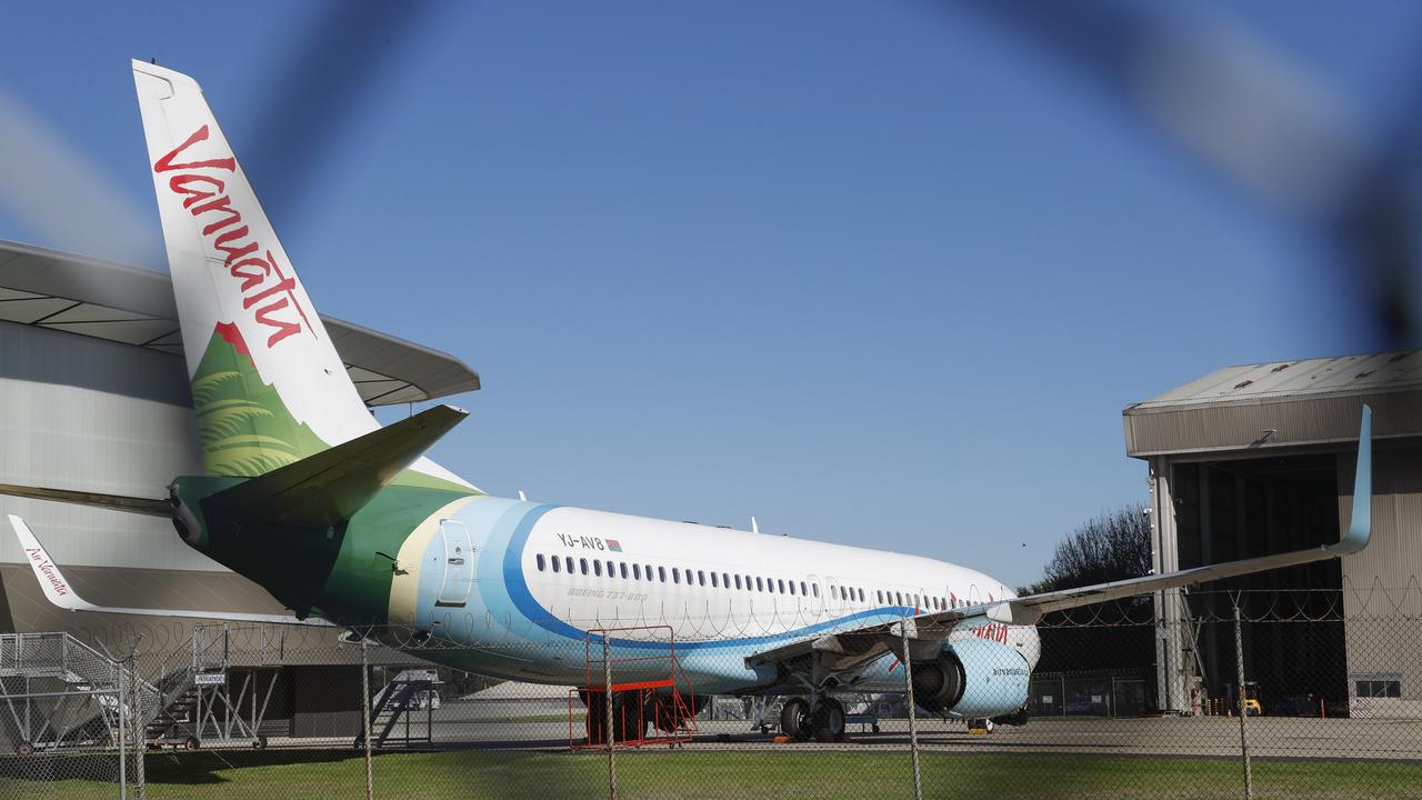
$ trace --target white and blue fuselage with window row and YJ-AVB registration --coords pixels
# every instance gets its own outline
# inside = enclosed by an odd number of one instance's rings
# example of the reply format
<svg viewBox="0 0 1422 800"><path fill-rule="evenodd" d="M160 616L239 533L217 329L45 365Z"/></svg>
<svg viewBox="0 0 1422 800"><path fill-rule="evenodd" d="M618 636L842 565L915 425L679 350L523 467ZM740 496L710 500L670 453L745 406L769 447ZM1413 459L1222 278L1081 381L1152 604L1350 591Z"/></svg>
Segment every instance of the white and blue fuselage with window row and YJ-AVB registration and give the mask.
<svg viewBox="0 0 1422 800"><path fill-rule="evenodd" d="M674 639L690 680L725 692L768 683L745 658L791 641L1015 596L931 558L491 497L428 520L400 564L412 568L391 591L392 622L476 649L451 665L550 683L586 676L569 653L590 631L610 631L629 659ZM983 621L961 636L1037 662L1034 628Z"/></svg>

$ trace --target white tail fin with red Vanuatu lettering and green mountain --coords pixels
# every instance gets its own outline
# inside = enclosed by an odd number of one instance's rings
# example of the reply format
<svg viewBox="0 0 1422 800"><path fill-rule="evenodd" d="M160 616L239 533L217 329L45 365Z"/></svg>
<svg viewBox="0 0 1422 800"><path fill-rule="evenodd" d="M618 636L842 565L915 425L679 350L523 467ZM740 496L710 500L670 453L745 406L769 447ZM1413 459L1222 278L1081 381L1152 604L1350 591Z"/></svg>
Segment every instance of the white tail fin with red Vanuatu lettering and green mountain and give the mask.
<svg viewBox="0 0 1422 800"><path fill-rule="evenodd" d="M202 88L132 70L208 473L262 475L378 430Z"/></svg>

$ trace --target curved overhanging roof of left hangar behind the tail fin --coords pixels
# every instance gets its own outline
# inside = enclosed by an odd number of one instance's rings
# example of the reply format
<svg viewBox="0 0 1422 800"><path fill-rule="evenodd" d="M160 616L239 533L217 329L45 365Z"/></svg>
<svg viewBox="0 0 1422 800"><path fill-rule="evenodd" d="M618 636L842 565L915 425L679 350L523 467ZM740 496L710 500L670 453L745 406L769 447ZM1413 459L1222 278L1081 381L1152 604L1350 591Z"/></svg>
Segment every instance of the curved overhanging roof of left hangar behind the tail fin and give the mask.
<svg viewBox="0 0 1422 800"><path fill-rule="evenodd" d="M182 354L168 275L0 239L0 320ZM479 389L459 359L321 315L367 406Z"/></svg>

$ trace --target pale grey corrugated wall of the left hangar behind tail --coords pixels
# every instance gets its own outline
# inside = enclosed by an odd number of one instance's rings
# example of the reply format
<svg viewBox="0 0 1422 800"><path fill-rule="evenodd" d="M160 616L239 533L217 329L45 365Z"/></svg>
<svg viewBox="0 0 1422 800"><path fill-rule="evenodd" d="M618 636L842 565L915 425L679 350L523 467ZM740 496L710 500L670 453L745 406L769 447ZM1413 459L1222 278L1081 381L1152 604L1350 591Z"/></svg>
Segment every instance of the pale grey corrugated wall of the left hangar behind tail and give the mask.
<svg viewBox="0 0 1422 800"><path fill-rule="evenodd" d="M201 474L182 359L101 339L0 323L0 483L164 497ZM0 497L55 561L220 569L164 520ZM0 561L18 562L9 524Z"/></svg>

